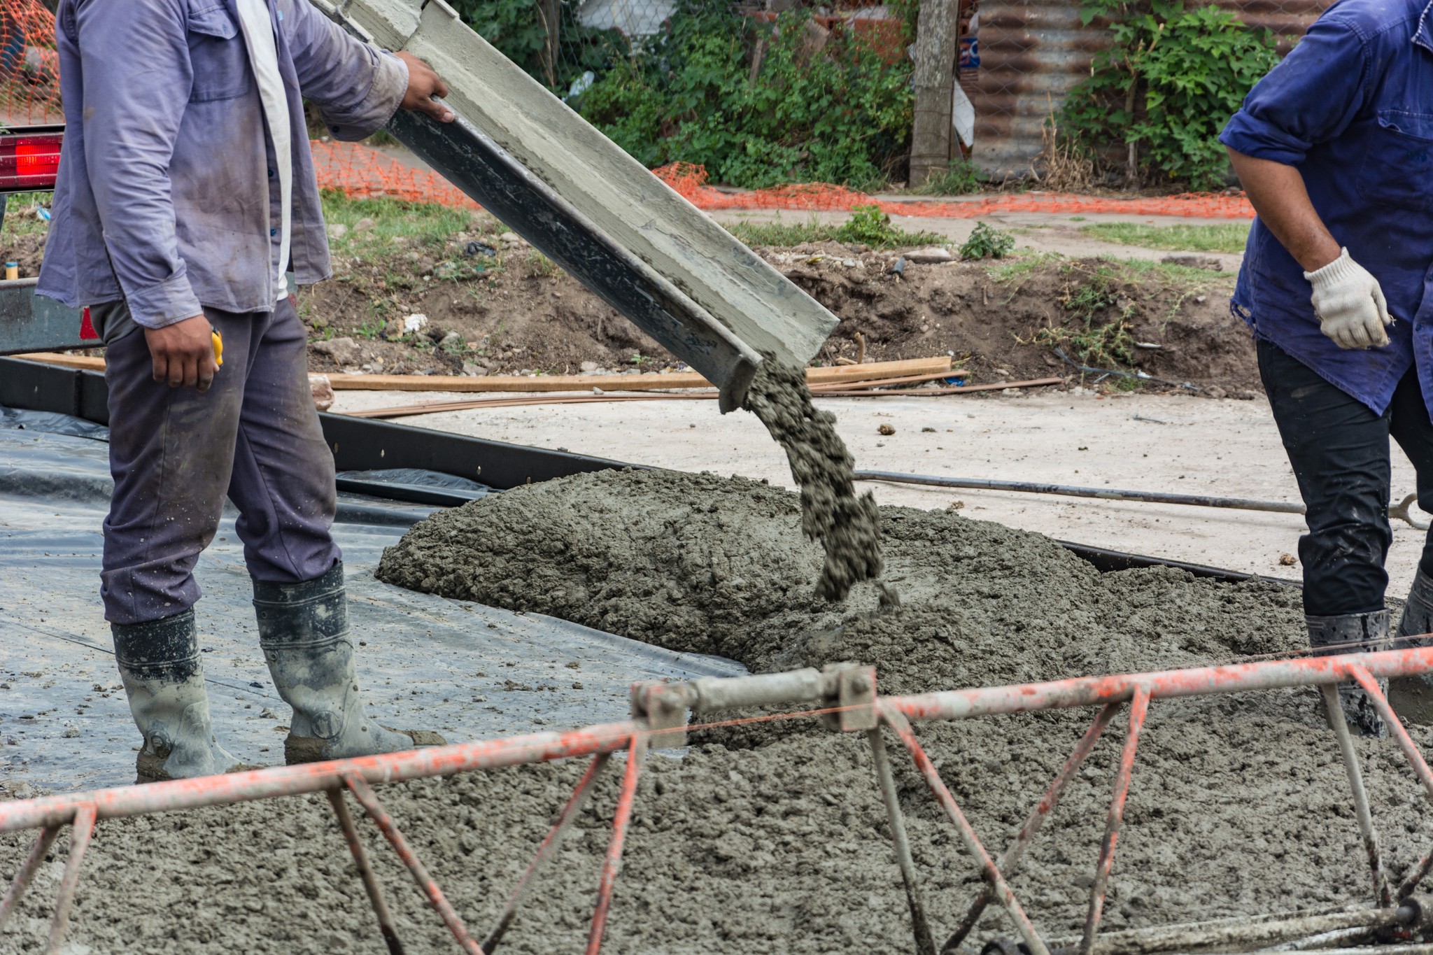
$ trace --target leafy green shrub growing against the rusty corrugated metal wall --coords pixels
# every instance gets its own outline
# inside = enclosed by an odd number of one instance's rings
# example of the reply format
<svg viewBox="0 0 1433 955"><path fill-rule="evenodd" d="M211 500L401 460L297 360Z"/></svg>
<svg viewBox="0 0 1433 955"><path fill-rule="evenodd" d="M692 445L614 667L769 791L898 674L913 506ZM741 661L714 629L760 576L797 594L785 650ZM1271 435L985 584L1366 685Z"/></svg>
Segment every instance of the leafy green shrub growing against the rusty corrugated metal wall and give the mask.
<svg viewBox="0 0 1433 955"><path fill-rule="evenodd" d="M1218 6L1082 0L1086 24L1101 17L1113 44L1065 100L1062 130L1096 160L1112 143L1132 145L1145 178L1222 186L1228 160L1217 136L1278 62L1273 34Z"/></svg>

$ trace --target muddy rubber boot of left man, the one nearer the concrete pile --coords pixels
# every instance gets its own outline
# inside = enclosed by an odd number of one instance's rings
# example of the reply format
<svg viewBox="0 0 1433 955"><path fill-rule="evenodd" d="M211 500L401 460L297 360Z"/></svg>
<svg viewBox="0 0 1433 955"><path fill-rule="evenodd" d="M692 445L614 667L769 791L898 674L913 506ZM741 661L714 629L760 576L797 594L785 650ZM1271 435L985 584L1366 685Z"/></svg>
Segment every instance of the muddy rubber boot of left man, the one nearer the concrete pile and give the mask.
<svg viewBox="0 0 1433 955"><path fill-rule="evenodd" d="M443 745L437 733L398 733L364 714L341 563L299 584L255 580L254 610L274 686L294 707L284 762L292 766Z"/></svg>

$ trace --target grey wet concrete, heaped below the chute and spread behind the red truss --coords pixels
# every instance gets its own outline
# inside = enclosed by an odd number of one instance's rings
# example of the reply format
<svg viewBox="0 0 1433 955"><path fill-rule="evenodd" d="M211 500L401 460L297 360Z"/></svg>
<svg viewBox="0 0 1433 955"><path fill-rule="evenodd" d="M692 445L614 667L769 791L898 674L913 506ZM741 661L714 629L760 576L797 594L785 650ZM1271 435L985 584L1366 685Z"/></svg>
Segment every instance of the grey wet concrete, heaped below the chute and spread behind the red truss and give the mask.
<svg viewBox="0 0 1433 955"><path fill-rule="evenodd" d="M729 656L758 672L861 660L877 666L886 693L1198 666L1303 643L1295 588L1174 570L1101 574L1037 534L953 513L881 508L880 523L886 580L901 594L894 610L880 607L873 583L841 604L817 597L823 553L801 533L797 495L708 474L609 471L487 497L416 525L378 576ZM917 733L999 850L1091 716L921 724ZM1048 934L1068 935L1083 919L1122 729L1116 717L1013 879ZM1419 739L1433 742L1422 730ZM1433 843L1433 819L1393 745L1357 746L1397 876ZM576 763L530 766L390 786L380 796L481 932L580 772ZM616 776L542 876L503 951L580 949ZM941 932L979 889L974 866L900 759L897 780ZM13 838L0 846L0 871L13 871L23 846ZM72 938L95 952L383 951L322 799L105 823L90 853ZM408 951L449 951L391 853L373 855ZM681 759L652 755L625 858L612 952L911 951L860 735L764 724L742 736L694 733ZM37 951L37 919L60 862L49 865L49 885L0 932L0 952ZM1371 896L1315 693L1156 702L1106 926L1333 902ZM1006 916L990 911L970 945L1010 934Z"/></svg>

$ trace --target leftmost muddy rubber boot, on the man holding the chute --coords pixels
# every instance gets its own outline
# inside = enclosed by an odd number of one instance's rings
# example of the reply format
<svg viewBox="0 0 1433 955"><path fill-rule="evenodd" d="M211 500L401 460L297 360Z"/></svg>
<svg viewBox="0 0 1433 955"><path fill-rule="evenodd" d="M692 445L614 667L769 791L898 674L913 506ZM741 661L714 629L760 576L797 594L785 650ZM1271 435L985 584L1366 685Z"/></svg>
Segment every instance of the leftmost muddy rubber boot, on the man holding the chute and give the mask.
<svg viewBox="0 0 1433 955"><path fill-rule="evenodd" d="M129 712L145 737L135 760L140 783L212 776L234 769L214 737L193 610L148 623L110 624Z"/></svg>

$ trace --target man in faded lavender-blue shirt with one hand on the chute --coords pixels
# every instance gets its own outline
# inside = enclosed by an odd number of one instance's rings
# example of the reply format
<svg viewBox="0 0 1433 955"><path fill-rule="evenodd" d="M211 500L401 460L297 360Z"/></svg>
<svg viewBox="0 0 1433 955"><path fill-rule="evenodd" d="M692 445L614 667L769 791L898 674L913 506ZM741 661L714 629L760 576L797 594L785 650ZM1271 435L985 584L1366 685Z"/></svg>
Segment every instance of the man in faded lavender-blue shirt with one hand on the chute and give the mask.
<svg viewBox="0 0 1433 955"><path fill-rule="evenodd" d="M294 707L287 762L440 742L364 714L334 461L287 289L330 276L304 100L334 137L401 106L453 119L421 60L365 46L308 0L60 0L66 140L39 294L105 339L110 470L100 596L142 780L231 769L199 660L193 567L224 498L259 646ZM222 339L222 368L215 335Z"/></svg>

